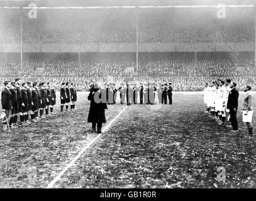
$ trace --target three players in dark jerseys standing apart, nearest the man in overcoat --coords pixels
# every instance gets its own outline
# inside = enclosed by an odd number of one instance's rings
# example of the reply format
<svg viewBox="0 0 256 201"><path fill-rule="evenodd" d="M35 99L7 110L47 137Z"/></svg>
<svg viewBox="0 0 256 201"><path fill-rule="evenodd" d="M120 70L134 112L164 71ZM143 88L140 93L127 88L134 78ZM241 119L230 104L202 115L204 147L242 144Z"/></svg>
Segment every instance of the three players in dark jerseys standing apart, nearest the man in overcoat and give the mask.
<svg viewBox="0 0 256 201"><path fill-rule="evenodd" d="M69 103L70 109L72 111L75 110L75 102L77 102L77 89L76 84L69 82L62 82L60 87L60 111L63 112L64 105L66 106L66 111L69 110Z"/></svg>

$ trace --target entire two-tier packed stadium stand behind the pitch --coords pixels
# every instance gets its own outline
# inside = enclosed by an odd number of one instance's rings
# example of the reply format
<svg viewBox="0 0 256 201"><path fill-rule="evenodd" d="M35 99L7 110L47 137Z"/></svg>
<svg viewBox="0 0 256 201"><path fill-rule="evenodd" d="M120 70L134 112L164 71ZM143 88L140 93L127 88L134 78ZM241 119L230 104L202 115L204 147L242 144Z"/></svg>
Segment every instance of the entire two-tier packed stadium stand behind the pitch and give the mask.
<svg viewBox="0 0 256 201"><path fill-rule="evenodd" d="M202 90L205 82L216 77L233 77L239 87L247 82L255 85L255 22L250 8L228 9L225 19L216 18L216 9L201 8L140 9L138 13L89 9L77 10L75 15L69 9L42 9L36 19L23 12L22 20L19 12L2 11L1 80L25 77L50 80L56 86L73 80L79 90L87 90L92 78L106 77L166 80L177 91ZM80 50L81 44L88 49ZM61 45L74 48L69 52Z"/></svg>

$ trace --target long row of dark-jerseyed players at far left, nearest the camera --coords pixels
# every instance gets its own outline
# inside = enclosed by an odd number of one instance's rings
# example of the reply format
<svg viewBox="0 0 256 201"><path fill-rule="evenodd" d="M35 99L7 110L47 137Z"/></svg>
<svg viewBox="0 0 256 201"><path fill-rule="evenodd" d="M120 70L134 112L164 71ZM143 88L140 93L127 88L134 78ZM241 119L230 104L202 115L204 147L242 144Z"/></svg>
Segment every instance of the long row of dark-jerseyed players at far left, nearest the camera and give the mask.
<svg viewBox="0 0 256 201"><path fill-rule="evenodd" d="M38 119L52 114L53 106L56 104L55 88L50 82L21 84L21 79L15 79L14 82L6 81L1 93L1 104L6 114L3 118L3 130L8 132L8 125L10 128L17 128L31 124L29 116L32 122L37 122ZM18 116L20 124L18 124Z"/></svg>

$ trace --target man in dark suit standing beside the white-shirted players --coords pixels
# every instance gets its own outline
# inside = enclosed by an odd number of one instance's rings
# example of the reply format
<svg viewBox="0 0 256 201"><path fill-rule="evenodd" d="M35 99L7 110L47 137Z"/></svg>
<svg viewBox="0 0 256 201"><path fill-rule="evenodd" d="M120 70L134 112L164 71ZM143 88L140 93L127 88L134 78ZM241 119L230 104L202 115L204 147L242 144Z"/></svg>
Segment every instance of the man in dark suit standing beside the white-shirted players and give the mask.
<svg viewBox="0 0 256 201"><path fill-rule="evenodd" d="M235 82L230 83L230 94L228 95L228 103L226 108L230 109L230 121L233 127L233 132L238 131L238 122L237 122L237 109L238 109L238 97L239 92L236 89L237 84Z"/></svg>

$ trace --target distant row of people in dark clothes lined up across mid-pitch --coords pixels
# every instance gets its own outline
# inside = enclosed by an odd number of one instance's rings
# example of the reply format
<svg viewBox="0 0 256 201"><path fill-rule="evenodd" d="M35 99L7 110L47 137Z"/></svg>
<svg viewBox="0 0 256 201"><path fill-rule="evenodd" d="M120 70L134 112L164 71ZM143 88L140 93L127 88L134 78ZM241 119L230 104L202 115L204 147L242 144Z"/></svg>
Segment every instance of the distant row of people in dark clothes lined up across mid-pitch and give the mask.
<svg viewBox="0 0 256 201"><path fill-rule="evenodd" d="M91 85L92 87L92 85ZM116 84L104 84L101 88L101 92L106 95L107 104L116 104L116 92L120 92L120 103L124 104L125 99L127 106L131 104L154 104L155 94L157 94L159 99L159 104L167 104L167 97L169 99L169 104L172 105L172 83L165 84L121 84L116 86ZM144 102L143 102L144 100Z"/></svg>

